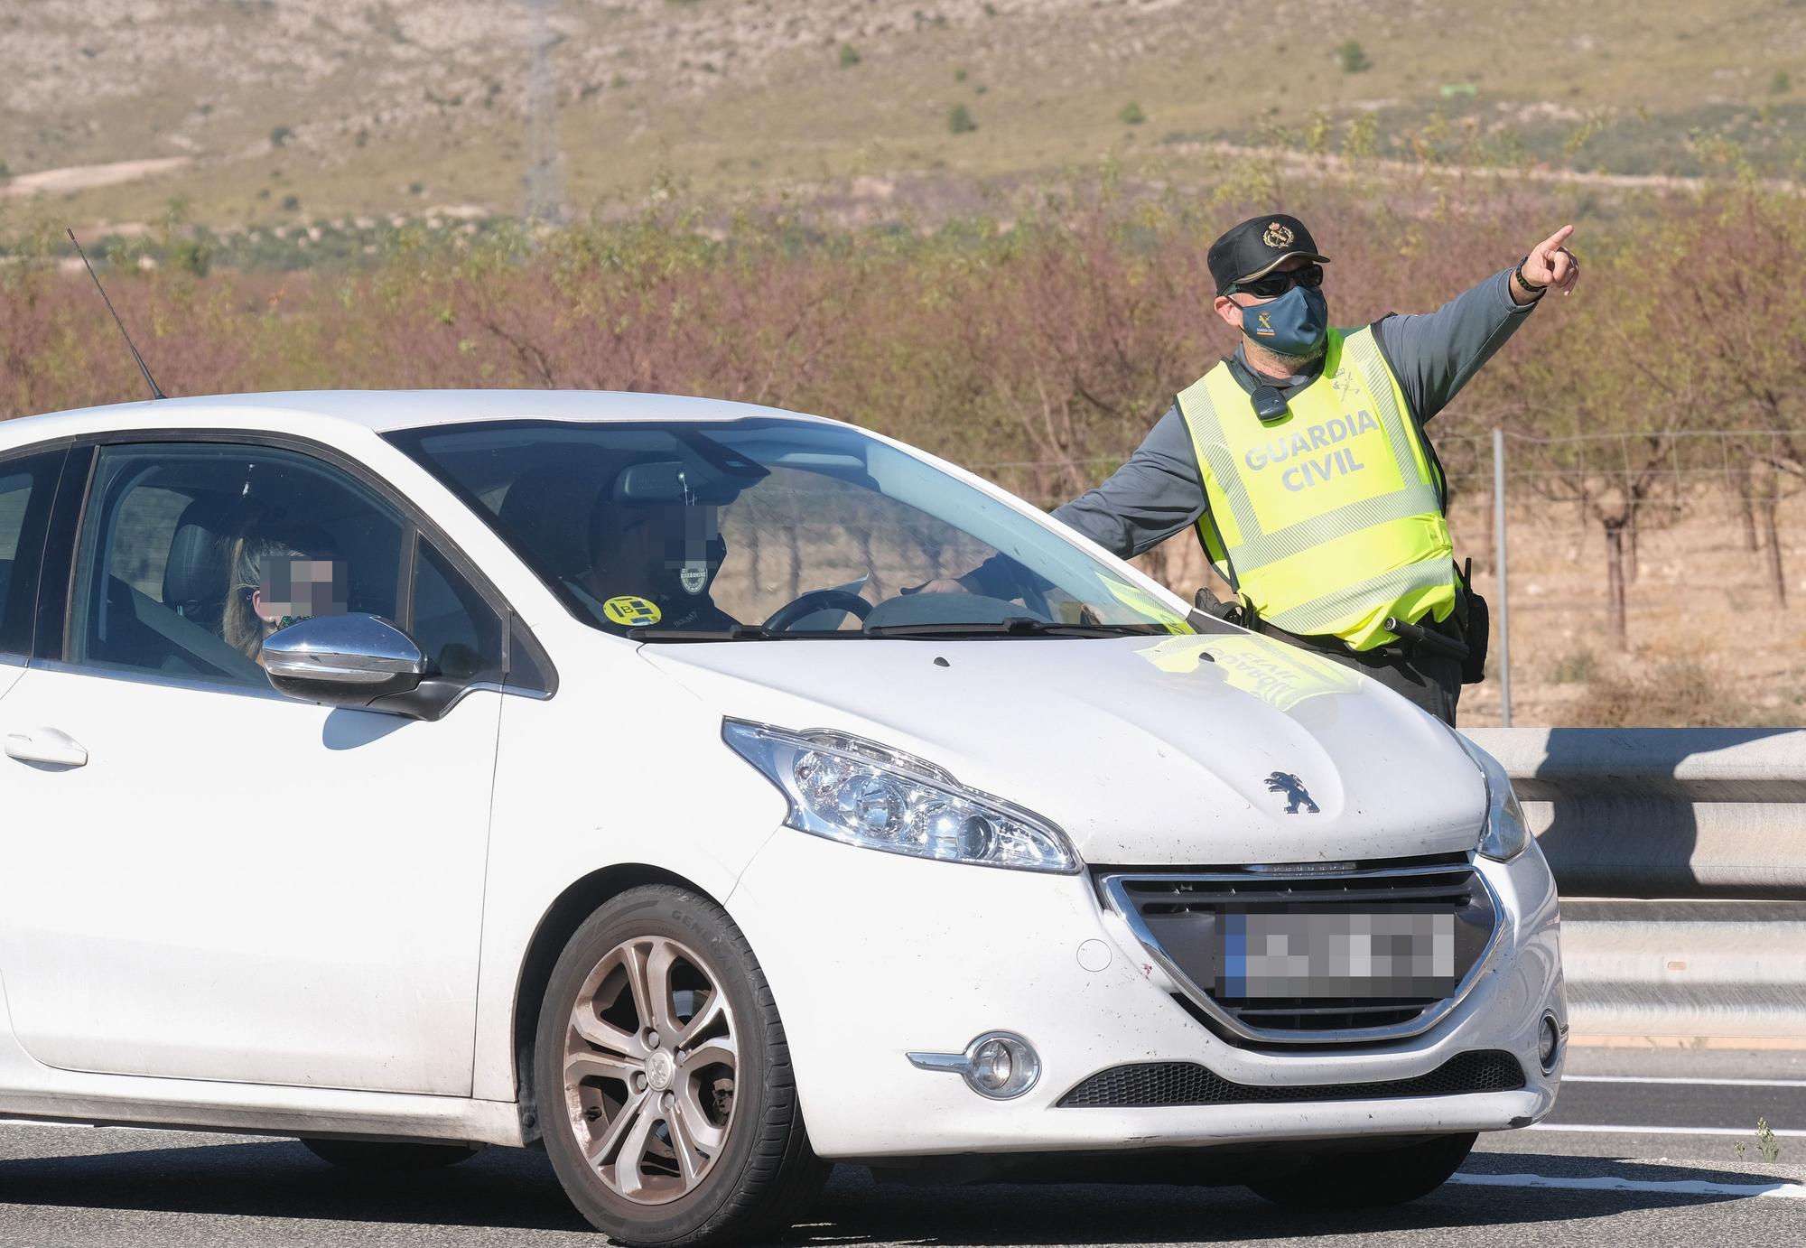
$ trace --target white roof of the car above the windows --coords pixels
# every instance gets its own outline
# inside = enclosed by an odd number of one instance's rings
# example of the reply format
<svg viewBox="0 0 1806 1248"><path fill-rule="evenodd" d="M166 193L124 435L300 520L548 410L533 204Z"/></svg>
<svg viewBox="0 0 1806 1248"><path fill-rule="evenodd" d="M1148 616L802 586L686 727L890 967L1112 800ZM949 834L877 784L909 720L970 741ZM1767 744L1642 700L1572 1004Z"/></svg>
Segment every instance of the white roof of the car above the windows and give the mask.
<svg viewBox="0 0 1806 1248"><path fill-rule="evenodd" d="M144 399L0 421L0 442L29 442L141 428L255 428L332 441L345 426L392 430L470 421L733 421L744 417L824 421L730 399L619 390L282 390Z"/></svg>

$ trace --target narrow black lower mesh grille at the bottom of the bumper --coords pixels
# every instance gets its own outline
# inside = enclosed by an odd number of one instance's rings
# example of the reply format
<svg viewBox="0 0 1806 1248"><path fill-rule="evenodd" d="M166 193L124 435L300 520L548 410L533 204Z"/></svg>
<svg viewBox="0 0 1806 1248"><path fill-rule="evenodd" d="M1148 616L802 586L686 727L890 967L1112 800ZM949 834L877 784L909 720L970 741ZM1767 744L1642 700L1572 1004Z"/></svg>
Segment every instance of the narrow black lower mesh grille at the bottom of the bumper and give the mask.
<svg viewBox="0 0 1806 1248"><path fill-rule="evenodd" d="M1232 1084L1196 1062L1147 1062L1098 1071L1060 1098L1060 1109L1147 1109L1159 1105L1255 1105L1299 1100L1391 1100L1515 1093L1524 1067L1510 1053L1461 1053L1416 1078L1380 1084Z"/></svg>

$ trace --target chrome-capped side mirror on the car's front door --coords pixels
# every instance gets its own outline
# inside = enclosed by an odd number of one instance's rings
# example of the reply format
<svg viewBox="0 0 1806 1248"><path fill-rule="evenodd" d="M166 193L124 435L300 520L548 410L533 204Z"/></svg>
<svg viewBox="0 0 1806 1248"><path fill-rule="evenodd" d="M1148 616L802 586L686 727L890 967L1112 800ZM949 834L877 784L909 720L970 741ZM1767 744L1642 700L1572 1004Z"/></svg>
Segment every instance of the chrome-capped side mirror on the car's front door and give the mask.
<svg viewBox="0 0 1806 1248"><path fill-rule="evenodd" d="M280 629L264 639L264 672L278 694L303 703L437 719L417 699L377 704L414 694L426 675L414 638L379 616L314 616Z"/></svg>

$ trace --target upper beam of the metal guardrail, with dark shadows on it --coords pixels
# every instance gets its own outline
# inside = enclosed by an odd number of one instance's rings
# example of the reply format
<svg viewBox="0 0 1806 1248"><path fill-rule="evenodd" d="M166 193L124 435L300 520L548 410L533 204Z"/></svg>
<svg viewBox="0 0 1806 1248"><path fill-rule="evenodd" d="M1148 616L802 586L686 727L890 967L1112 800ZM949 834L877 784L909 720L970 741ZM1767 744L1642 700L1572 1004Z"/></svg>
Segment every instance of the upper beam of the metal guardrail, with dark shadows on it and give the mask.
<svg viewBox="0 0 1806 1248"><path fill-rule="evenodd" d="M1474 728L1564 894L1806 901L1806 728Z"/></svg>

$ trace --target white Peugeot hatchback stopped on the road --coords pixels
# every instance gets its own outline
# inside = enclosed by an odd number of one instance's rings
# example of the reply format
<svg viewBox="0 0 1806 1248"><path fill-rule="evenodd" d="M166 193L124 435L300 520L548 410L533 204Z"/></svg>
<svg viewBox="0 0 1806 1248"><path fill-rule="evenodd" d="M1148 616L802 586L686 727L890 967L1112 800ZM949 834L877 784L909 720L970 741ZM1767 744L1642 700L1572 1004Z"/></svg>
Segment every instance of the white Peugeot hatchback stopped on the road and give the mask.
<svg viewBox="0 0 1806 1248"><path fill-rule="evenodd" d="M858 428L16 419L0 560L0 1116L540 1145L695 1244L834 1161L1396 1203L1555 1100L1494 760Z"/></svg>

